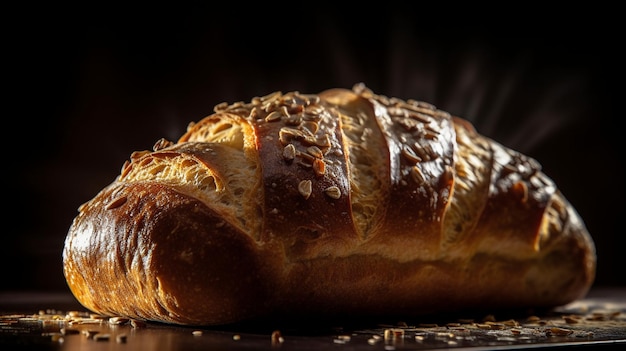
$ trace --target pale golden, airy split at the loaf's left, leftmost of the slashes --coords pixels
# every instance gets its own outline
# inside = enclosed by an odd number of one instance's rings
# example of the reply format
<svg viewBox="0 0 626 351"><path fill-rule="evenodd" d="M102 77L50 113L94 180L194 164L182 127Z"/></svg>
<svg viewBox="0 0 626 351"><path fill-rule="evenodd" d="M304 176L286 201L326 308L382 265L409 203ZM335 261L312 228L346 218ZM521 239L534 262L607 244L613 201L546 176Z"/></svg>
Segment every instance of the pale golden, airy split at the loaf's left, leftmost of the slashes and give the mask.
<svg viewBox="0 0 626 351"><path fill-rule="evenodd" d="M133 153L119 181L159 182L194 197L200 194L199 200L224 219L258 238L262 194L254 144L246 120L229 114L208 116L190 124L177 143L162 139L152 152Z"/></svg>

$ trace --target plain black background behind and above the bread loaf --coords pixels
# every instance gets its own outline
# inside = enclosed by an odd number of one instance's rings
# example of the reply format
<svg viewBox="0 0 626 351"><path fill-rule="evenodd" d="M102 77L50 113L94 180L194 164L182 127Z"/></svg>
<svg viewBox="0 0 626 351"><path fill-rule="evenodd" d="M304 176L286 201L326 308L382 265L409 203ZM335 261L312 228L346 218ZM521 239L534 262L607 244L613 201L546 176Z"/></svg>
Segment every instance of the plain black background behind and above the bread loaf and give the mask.
<svg viewBox="0 0 626 351"><path fill-rule="evenodd" d="M596 284L626 284L623 41L607 14L494 9L459 21L418 6L302 4L6 12L17 20L3 34L0 291L67 290L67 229L132 151L176 140L223 101L358 82L536 158L594 237Z"/></svg>

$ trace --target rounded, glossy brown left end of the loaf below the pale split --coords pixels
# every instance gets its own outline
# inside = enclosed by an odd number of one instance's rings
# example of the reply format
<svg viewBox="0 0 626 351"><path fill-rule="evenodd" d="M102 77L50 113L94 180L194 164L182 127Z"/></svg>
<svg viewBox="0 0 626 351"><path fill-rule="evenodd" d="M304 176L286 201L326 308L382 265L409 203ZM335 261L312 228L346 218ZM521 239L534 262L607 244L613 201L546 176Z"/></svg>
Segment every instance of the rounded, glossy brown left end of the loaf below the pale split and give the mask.
<svg viewBox="0 0 626 351"><path fill-rule="evenodd" d="M124 203L115 205L120 198ZM263 270L271 260L194 197L159 184L117 184L82 213L89 218L79 215L68 236L65 272L72 292L90 309L216 324L269 307Z"/></svg>

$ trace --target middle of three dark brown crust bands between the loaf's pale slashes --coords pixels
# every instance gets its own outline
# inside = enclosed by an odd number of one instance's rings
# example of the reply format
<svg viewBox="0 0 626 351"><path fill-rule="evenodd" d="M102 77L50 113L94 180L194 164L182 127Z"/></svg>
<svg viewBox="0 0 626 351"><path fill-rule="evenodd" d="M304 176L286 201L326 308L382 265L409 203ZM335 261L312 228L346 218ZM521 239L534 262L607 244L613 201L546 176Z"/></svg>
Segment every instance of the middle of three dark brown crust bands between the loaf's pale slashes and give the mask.
<svg viewBox="0 0 626 351"><path fill-rule="evenodd" d="M389 194L379 226L363 252L401 262L439 257L442 220L453 192L454 128L450 114L433 105L374 94L363 84L354 93L370 104L388 154Z"/></svg>

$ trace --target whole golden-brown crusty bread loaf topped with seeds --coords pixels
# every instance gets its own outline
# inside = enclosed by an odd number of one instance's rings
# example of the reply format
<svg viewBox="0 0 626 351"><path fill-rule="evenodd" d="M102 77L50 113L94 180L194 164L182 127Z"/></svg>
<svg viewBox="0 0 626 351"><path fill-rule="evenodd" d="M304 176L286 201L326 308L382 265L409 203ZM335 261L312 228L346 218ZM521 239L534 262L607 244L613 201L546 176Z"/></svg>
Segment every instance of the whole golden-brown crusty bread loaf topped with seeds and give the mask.
<svg viewBox="0 0 626 351"><path fill-rule="evenodd" d="M72 293L180 325L551 308L596 269L540 164L357 84L222 103L79 208Z"/></svg>

